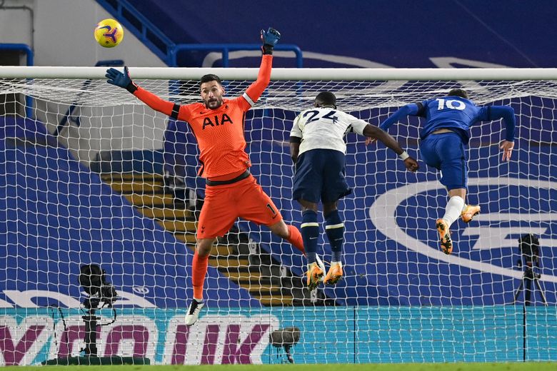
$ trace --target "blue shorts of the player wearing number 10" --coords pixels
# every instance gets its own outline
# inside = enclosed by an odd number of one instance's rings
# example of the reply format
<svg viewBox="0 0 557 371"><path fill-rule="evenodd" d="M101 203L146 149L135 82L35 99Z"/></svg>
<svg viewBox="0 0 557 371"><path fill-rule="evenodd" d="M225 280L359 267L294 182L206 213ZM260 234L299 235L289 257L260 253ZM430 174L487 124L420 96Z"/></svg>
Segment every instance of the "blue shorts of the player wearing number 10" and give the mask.
<svg viewBox="0 0 557 371"><path fill-rule="evenodd" d="M448 190L468 185L468 164L461 136L457 133L430 134L421 141L423 162L441 171L441 184Z"/></svg>

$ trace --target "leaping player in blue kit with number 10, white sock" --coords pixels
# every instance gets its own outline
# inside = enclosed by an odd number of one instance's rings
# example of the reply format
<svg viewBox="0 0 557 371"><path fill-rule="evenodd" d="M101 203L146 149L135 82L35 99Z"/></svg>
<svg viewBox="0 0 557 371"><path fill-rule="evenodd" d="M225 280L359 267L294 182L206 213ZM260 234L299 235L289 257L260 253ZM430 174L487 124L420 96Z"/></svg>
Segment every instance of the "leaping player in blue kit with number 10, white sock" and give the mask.
<svg viewBox="0 0 557 371"><path fill-rule="evenodd" d="M500 143L502 161L509 161L514 147L514 110L508 106L476 106L463 89L453 89L447 96L412 103L398 109L379 126L387 130L405 116L426 118L420 133L421 158L425 163L441 171L441 183L448 190L449 200L443 218L436 220L439 242L443 253L453 251L449 228L460 215L465 223L480 212L478 205L466 205L468 166L464 146L470 139L469 128L477 121L493 121L503 118L506 139Z"/></svg>

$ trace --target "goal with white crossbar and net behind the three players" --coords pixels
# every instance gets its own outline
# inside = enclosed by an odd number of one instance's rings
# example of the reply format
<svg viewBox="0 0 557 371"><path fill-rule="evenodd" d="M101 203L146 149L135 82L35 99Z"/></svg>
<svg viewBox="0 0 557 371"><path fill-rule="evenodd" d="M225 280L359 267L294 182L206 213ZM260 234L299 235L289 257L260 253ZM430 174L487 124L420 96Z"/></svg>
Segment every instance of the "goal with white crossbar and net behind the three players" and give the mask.
<svg viewBox="0 0 557 371"><path fill-rule="evenodd" d="M139 86L179 103L199 101L205 73L234 97L258 71L129 70ZM353 193L339 202L346 277L308 292L303 257L239 221L214 247L194 327L183 325L204 198L194 137L187 123L106 83L105 71L0 66L0 365L80 355L87 295L79 276L89 264L110 283L99 286L101 305L111 301L106 286L118 293L114 322L108 308L97 312L106 324L97 327L99 356L164 364L279 363L287 353L298 363L557 360L557 68L275 68L246 116L246 151L251 172L295 225L288 136L320 91L378 125L404 104L462 87L477 105L514 108L515 151L501 161L501 122L471 128L466 202L482 213L453 224L455 248L444 255L433 227L446 190L419 159L423 123L408 118L389 129L418 159L416 174L383 145L348 134ZM529 234L539 246L524 243ZM331 257L324 233L318 255Z"/></svg>

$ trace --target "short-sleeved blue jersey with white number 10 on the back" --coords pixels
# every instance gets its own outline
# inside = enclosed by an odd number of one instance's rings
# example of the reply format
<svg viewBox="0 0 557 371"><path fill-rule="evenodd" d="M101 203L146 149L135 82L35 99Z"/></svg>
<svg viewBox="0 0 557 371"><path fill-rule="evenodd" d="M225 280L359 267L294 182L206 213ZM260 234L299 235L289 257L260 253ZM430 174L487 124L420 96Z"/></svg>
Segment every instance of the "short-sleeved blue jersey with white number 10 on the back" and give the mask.
<svg viewBox="0 0 557 371"><path fill-rule="evenodd" d="M470 126L476 121L487 121L489 107L478 107L459 96L446 96L421 102L416 116L426 118L420 138L426 138L438 129L448 128L458 133L464 143L468 143Z"/></svg>

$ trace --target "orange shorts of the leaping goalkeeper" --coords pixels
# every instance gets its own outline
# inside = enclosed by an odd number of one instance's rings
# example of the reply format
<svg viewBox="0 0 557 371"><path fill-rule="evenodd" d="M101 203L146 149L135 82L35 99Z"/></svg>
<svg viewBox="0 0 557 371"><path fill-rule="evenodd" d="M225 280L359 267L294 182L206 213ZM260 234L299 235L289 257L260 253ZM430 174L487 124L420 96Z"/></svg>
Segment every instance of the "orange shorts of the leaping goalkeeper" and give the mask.
<svg viewBox="0 0 557 371"><path fill-rule="evenodd" d="M282 220L281 213L254 176L232 184L206 186L197 238L223 236L238 218L263 225Z"/></svg>

